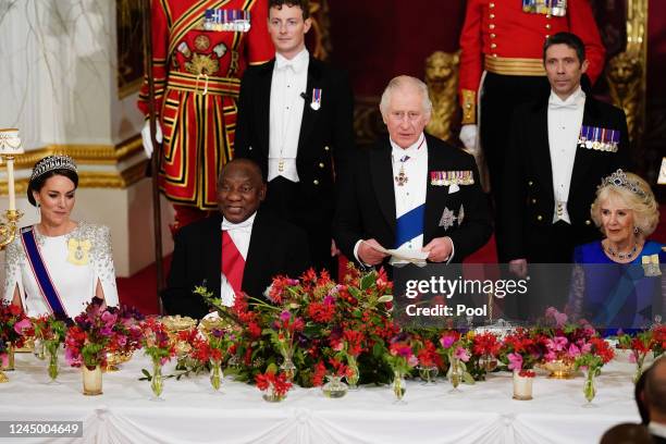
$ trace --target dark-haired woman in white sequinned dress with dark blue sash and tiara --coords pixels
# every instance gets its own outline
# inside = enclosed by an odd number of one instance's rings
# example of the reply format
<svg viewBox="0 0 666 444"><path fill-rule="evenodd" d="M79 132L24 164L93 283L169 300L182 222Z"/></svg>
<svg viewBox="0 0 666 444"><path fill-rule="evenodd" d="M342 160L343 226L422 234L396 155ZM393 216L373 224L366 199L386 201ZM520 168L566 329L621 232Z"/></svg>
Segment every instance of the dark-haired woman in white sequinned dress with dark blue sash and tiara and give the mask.
<svg viewBox="0 0 666 444"><path fill-rule="evenodd" d="M109 229L70 219L77 185L66 156L46 157L33 169L27 198L40 222L8 246L4 286L4 299L29 317L74 318L94 296L118 305Z"/></svg>

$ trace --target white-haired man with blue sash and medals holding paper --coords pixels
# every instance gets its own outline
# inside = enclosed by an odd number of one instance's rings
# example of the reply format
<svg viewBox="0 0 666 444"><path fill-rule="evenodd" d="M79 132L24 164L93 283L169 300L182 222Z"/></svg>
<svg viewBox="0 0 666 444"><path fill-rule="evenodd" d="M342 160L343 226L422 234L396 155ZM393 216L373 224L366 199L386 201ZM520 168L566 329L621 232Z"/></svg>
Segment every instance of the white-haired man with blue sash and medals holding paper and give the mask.
<svg viewBox="0 0 666 444"><path fill-rule="evenodd" d="M474 158L423 133L432 103L418 78L392 79L380 109L388 136L356 152L341 176L335 242L368 266L421 252L429 262L461 262L492 232Z"/></svg>

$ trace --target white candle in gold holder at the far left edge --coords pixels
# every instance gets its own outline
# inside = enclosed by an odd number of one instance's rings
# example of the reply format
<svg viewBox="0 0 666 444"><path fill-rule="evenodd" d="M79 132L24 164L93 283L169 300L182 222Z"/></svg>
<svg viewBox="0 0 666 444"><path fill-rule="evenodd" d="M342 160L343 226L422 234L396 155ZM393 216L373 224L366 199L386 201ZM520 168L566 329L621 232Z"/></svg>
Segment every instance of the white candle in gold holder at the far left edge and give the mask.
<svg viewBox="0 0 666 444"><path fill-rule="evenodd" d="M18 130L0 130L0 162L7 162L7 190L9 195L9 209L4 213L7 222L0 223L0 249L7 247L16 236L16 223L23 215L16 210L16 196L14 192L14 158L23 153Z"/></svg>

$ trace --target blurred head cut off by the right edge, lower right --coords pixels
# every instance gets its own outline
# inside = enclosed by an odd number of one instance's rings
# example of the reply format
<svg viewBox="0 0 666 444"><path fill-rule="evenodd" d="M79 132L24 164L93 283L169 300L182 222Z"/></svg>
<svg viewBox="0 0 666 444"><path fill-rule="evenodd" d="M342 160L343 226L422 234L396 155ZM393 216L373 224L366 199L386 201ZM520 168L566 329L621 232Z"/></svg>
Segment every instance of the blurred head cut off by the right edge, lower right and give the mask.
<svg viewBox="0 0 666 444"><path fill-rule="evenodd" d="M645 404L652 440L666 444L666 358L663 356L654 361L645 377Z"/></svg>

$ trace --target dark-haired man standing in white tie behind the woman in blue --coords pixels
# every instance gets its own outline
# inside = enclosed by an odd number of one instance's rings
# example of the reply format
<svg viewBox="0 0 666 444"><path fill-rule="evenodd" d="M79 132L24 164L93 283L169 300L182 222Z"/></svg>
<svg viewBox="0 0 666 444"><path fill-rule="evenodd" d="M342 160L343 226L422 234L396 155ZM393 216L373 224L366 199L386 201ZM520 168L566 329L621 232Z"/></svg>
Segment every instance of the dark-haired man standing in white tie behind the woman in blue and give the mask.
<svg viewBox="0 0 666 444"><path fill-rule="evenodd" d="M575 246L601 237L590 217L594 193L629 158L624 111L581 89L581 39L555 34L543 62L551 95L514 113L498 207L499 258L520 275L528 262L571 262Z"/></svg>

